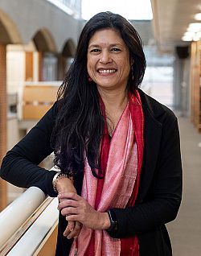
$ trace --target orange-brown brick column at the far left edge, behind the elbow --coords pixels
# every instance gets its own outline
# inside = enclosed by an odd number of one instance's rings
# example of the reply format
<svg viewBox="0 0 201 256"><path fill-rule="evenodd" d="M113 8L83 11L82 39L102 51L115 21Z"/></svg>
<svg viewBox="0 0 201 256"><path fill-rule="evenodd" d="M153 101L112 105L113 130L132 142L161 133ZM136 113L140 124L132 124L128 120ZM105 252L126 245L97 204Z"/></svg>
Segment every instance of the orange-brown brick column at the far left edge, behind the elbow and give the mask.
<svg viewBox="0 0 201 256"><path fill-rule="evenodd" d="M6 45L0 44L0 163L2 163L2 158L6 154L6 98ZM0 179L0 211L6 207L6 197L6 182Z"/></svg>

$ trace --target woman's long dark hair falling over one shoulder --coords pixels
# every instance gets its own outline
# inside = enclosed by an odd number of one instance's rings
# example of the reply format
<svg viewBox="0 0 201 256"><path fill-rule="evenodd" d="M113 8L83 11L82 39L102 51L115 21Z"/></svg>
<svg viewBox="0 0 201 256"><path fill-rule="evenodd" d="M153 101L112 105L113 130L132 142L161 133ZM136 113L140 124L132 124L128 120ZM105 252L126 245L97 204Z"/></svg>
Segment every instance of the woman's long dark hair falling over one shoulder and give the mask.
<svg viewBox="0 0 201 256"><path fill-rule="evenodd" d="M142 40L134 27L121 15L101 12L85 24L74 61L59 88L59 111L52 136L55 165L69 175L75 176L83 171L84 156L88 159L92 174L96 177L101 175L99 155L105 118L100 111L96 84L88 81L87 52L92 35L103 28L118 31L129 48L130 60L133 61L127 85L129 93L134 93L142 83L146 69Z"/></svg>

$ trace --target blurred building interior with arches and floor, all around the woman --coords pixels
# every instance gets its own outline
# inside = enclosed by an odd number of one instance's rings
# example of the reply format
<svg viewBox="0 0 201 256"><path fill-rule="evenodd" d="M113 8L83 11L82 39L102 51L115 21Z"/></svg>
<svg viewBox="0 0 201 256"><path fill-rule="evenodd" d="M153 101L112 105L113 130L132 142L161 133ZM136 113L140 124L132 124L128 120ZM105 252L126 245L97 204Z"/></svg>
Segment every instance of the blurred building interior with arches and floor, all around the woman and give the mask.
<svg viewBox="0 0 201 256"><path fill-rule="evenodd" d="M178 218L168 228L175 256L199 256L199 0L0 0L0 162L54 103L84 23L106 10L123 15L136 28L147 60L141 88L178 117L184 192ZM40 165L51 169L53 157ZM0 180L0 211L23 192L23 188Z"/></svg>

